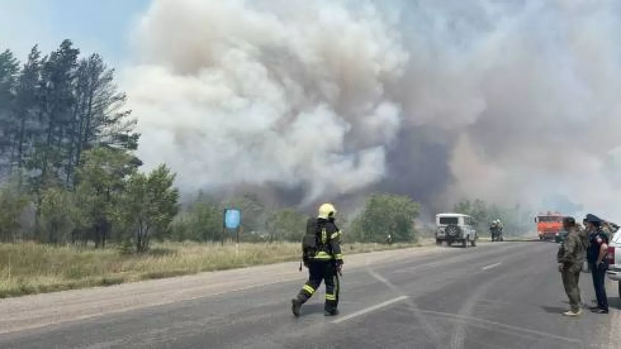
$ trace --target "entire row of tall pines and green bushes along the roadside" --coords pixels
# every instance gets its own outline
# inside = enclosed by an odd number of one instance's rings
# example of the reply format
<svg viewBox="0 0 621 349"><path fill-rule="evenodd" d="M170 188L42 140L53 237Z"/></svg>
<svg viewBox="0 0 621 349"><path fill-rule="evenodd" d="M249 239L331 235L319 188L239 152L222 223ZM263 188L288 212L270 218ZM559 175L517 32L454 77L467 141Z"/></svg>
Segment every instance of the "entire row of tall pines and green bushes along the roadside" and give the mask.
<svg viewBox="0 0 621 349"><path fill-rule="evenodd" d="M23 64L10 50L0 53L0 242L113 243L137 252L153 240L222 242L232 238L222 227L225 207L242 212L242 241L299 241L308 217L253 194L198 193L180 204L170 168L141 171L126 99L114 69L97 53L81 57L71 40L47 55L34 45ZM480 222L499 212L508 227L515 217L482 201L456 211ZM410 197L376 193L350 221L337 218L348 242L384 242L388 234L413 242L419 212Z"/></svg>

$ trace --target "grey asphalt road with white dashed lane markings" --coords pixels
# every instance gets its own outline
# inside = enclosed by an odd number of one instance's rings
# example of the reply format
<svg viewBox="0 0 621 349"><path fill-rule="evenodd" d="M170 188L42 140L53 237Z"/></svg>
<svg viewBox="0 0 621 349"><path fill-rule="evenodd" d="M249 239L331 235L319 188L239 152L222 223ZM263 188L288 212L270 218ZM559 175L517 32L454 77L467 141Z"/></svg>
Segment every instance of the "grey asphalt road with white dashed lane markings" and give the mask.
<svg viewBox="0 0 621 349"><path fill-rule="evenodd" d="M346 260L337 317L324 317L323 286L300 318L292 316L290 299L302 286L298 275L215 296L7 330L0 347L621 348L614 285L610 314L561 315L568 304L556 248L545 242L480 243L407 252L400 260L368 259L368 265L350 269ZM582 274L581 289L590 304L590 274Z"/></svg>

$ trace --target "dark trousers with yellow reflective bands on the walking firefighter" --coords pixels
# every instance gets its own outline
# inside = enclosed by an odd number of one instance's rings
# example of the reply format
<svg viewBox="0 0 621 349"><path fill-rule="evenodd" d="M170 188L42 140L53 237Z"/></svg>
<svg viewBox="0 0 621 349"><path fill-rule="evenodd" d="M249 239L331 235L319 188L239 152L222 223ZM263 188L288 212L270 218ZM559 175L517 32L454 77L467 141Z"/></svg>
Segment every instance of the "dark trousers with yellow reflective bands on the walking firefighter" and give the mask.
<svg viewBox="0 0 621 349"><path fill-rule="evenodd" d="M297 294L302 304L309 300L321 282L325 280L325 311L334 312L338 306L339 281L337 266L333 260L311 260L308 263L309 279Z"/></svg>

